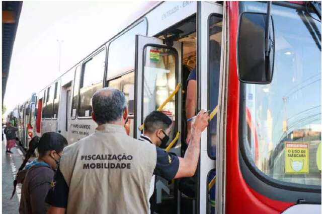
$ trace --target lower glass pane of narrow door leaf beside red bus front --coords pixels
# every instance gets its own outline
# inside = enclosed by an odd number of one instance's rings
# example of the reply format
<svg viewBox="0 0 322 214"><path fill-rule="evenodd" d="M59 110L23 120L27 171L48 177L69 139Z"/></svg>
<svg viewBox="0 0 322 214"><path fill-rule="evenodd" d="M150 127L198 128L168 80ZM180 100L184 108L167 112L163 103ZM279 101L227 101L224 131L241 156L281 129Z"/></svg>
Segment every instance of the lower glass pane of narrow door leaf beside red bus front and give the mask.
<svg viewBox="0 0 322 214"><path fill-rule="evenodd" d="M212 169L207 176L207 213L214 214L216 207L216 170Z"/></svg>

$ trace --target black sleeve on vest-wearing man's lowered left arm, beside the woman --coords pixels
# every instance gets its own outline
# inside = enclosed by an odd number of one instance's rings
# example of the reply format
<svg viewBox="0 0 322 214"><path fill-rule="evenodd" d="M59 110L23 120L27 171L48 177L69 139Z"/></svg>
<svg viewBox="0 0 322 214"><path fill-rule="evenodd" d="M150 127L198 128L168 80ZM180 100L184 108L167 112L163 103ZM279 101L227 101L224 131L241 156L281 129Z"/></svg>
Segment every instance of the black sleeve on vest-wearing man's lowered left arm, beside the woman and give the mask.
<svg viewBox="0 0 322 214"><path fill-rule="evenodd" d="M68 186L59 167L55 173L54 181L46 197L46 203L56 207L67 207Z"/></svg>

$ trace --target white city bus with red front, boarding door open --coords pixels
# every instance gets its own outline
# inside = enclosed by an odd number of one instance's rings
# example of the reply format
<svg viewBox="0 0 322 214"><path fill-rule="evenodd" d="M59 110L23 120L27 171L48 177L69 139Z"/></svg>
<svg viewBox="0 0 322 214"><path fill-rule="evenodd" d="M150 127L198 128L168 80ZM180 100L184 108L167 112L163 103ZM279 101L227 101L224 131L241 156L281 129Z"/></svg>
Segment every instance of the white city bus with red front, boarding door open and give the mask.
<svg viewBox="0 0 322 214"><path fill-rule="evenodd" d="M202 133L194 177L156 179L155 211L320 211L320 3L155 3L36 94L33 135L55 131L72 144L93 133L92 95L112 87L125 94L126 130L138 138L179 85L162 111L174 120L171 138L181 133L170 152L183 156L194 68L197 110L217 106L214 131ZM289 162L285 145L299 142L312 149Z"/></svg>

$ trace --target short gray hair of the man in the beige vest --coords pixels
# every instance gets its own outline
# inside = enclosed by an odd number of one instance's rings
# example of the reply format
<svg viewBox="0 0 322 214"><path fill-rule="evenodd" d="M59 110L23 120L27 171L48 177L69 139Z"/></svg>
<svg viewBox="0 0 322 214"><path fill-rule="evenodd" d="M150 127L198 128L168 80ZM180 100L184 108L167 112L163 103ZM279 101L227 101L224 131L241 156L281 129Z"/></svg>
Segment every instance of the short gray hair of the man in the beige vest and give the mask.
<svg viewBox="0 0 322 214"><path fill-rule="evenodd" d="M96 122L105 124L118 121L126 109L125 96L118 89L100 89L92 97L92 108Z"/></svg>

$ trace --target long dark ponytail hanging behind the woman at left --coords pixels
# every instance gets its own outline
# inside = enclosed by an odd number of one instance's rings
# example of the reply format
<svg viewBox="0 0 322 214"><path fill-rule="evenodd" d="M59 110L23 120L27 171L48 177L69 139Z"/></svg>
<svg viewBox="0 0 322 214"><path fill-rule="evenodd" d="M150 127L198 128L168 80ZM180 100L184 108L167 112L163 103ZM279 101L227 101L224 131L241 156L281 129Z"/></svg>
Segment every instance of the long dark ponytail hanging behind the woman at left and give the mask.
<svg viewBox="0 0 322 214"><path fill-rule="evenodd" d="M10 199L12 199L12 198L14 197L14 195L15 195L16 187L17 187L18 182L19 182L19 183L22 183L22 182L23 182L23 179L25 178L25 174L26 174L26 172L22 173L23 175L21 175L21 176L20 176L20 173L19 173L19 172L20 172L20 171L22 171L22 170L25 168L25 166L26 166L26 164L27 164L27 162L28 162L29 158L34 154L35 150L37 149L37 147L38 147L38 145L39 145L39 139L40 139L40 137L39 137L39 136L34 136L34 137L30 140L30 142L29 142L29 148L28 148L28 150L27 150L25 160L23 161L23 163L22 163L22 164L21 164L21 166L19 167L19 170L18 170L17 176L16 176L16 178L15 178L15 180L14 180L14 190L12 191L12 196L11 196L11 198L10 198ZM21 177L22 177L22 178L21 178Z"/></svg>

